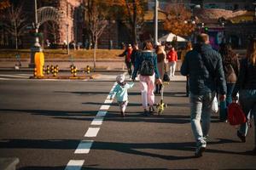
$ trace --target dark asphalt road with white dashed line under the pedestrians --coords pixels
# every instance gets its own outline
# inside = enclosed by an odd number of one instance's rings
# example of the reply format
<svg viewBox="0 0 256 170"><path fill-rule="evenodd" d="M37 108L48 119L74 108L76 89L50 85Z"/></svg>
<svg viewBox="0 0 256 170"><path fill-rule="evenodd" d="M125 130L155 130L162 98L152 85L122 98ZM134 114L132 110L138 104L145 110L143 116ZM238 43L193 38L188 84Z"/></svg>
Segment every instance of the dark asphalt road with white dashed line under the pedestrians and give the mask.
<svg viewBox="0 0 256 170"><path fill-rule="evenodd" d="M82 169L256 169L253 128L240 143L236 127L216 114L204 156L194 157L184 82L166 87L164 115L148 117L136 82L125 118L115 100L106 100L113 83L0 80L0 157L18 157L21 170L65 169L72 162Z"/></svg>

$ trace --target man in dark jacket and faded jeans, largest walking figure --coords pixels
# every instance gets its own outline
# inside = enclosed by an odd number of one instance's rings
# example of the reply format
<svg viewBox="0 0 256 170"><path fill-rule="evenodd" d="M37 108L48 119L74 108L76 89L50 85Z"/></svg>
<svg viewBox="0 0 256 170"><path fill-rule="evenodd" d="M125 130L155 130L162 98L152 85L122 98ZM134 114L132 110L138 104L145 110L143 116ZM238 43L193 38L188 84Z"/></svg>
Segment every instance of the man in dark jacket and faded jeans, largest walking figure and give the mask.
<svg viewBox="0 0 256 170"><path fill-rule="evenodd" d="M185 56L181 74L189 76L191 126L197 146L195 156L200 157L207 147L212 100L217 89L219 100L225 99L226 82L221 56L212 49L208 35L201 34L197 40L198 44Z"/></svg>

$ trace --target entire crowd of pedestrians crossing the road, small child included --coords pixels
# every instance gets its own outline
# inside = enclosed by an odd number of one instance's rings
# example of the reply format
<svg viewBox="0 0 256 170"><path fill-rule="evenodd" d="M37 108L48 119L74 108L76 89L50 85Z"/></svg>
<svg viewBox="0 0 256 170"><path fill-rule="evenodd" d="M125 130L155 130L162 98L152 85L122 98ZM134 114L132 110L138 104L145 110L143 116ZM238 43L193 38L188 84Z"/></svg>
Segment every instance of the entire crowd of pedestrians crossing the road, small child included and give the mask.
<svg viewBox="0 0 256 170"><path fill-rule="evenodd" d="M163 75L167 71L167 63L170 65L169 76L175 76L177 53L174 48L166 54L165 47L157 45L156 50L151 42L143 43L143 50L137 46L129 51L125 50L125 62L131 75L131 83L125 82L123 76L117 77L118 85L113 90L117 95L121 115L125 116L125 108L128 104L127 89L132 88L137 74L142 95L143 114L148 116L154 113L154 93L160 93ZM145 62L145 61L148 62ZM149 62L150 61L150 62ZM145 64L146 63L146 64ZM151 64L150 64L151 63ZM143 71L144 65L148 65L147 71ZM128 68L129 66L129 68ZM247 120L254 117L255 148L256 152L256 39L252 38L248 43L247 56L241 60L232 51L229 45L222 44L219 53L209 43L209 36L201 34L197 37L197 43L192 48L188 42L182 52L181 74L187 77L187 92L190 99L190 119L193 134L195 136L195 156L200 157L207 148L207 138L210 130L212 101L218 96L221 104L220 120L227 120L227 107L235 102L239 93L239 103L247 116ZM155 90L155 91L154 91ZM248 123L241 124L237 136L241 142L246 142Z"/></svg>

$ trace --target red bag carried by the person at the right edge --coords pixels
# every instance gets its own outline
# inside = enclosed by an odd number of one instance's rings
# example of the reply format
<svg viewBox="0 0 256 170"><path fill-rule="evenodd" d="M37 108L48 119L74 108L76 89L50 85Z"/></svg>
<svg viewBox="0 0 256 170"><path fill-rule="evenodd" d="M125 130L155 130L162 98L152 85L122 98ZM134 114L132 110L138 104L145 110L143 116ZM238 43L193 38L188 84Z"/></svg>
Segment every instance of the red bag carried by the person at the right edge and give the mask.
<svg viewBox="0 0 256 170"><path fill-rule="evenodd" d="M230 125L240 125L247 122L247 118L241 110L241 106L237 103L231 103L228 106L228 121L230 122Z"/></svg>

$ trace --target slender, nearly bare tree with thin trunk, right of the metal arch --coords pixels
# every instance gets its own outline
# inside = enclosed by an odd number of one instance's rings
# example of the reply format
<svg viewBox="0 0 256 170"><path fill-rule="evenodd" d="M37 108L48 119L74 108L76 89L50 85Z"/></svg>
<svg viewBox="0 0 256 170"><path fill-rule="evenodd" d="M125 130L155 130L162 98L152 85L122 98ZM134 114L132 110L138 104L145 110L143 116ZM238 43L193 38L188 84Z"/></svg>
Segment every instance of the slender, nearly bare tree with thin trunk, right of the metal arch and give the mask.
<svg viewBox="0 0 256 170"><path fill-rule="evenodd" d="M108 26L108 20L106 20L106 13L100 10L100 6L95 0L88 1L88 26L90 31L90 37L94 45L93 54L93 66L96 68L96 48L98 38L101 37L102 32Z"/></svg>

